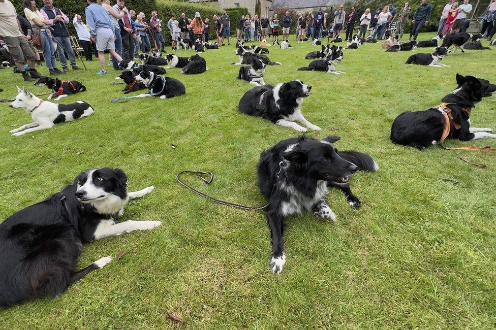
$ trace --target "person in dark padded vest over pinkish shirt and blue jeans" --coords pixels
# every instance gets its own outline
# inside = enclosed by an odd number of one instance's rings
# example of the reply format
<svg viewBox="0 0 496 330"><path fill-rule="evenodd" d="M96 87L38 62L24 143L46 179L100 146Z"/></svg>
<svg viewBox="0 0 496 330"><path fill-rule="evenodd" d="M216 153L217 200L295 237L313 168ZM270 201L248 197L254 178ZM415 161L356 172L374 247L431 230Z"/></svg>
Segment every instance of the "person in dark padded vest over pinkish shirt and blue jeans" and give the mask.
<svg viewBox="0 0 496 330"><path fill-rule="evenodd" d="M69 72L67 68L67 59L64 51L69 57L72 70L81 70L76 64L76 57L72 50L71 40L69 39L69 32L65 23L69 23L69 17L66 16L60 9L53 7L53 0L43 0L45 6L40 9L40 13L48 20L53 29L53 36L57 41L57 53L60 64L62 64L62 71Z"/></svg>

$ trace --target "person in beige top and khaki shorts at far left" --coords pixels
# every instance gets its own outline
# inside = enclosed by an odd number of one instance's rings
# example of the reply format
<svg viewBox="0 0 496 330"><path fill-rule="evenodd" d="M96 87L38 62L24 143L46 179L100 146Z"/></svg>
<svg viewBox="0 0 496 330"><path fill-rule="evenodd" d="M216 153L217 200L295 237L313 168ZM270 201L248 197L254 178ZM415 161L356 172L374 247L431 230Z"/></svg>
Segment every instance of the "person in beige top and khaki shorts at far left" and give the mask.
<svg viewBox="0 0 496 330"><path fill-rule="evenodd" d="M41 78L35 69L36 56L26 37L21 33L20 24L17 20L17 12L9 0L0 0L0 36L9 49L17 69L22 74L24 81L34 81ZM29 65L29 73L24 69L24 57Z"/></svg>

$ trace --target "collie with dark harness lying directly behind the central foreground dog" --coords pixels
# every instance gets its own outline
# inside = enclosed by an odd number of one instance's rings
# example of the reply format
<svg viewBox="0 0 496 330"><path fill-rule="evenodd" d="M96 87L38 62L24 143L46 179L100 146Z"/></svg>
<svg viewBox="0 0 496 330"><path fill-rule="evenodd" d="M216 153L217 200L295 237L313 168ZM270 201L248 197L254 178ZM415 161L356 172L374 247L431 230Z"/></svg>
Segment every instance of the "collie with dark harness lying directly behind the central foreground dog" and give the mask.
<svg viewBox="0 0 496 330"><path fill-rule="evenodd" d="M306 128L295 121L310 129L320 130L319 126L306 120L301 113L303 98L310 94L311 89L312 86L303 84L301 80L292 80L275 87L254 87L241 97L238 109L241 113L263 117L274 124L291 127L300 132L306 132Z"/></svg>

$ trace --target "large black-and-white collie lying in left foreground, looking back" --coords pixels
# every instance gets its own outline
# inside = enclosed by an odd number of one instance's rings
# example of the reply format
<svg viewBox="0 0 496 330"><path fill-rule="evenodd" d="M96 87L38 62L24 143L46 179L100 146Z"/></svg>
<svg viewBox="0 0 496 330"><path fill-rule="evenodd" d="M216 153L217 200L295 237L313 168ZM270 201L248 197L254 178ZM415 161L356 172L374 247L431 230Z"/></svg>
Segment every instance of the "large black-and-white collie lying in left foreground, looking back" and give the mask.
<svg viewBox="0 0 496 330"><path fill-rule="evenodd" d="M84 244L160 226L160 221L114 222L129 200L152 190L128 192L128 179L119 169L88 170L43 202L8 217L0 224L0 306L56 298L112 260L103 257L76 270Z"/></svg>

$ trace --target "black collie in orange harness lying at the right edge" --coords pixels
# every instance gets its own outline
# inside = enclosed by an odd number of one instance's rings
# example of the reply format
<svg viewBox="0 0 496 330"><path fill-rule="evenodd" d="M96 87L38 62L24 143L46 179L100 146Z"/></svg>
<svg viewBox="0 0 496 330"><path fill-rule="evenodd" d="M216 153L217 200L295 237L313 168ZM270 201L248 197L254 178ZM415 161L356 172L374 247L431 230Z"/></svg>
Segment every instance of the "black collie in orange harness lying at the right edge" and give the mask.
<svg viewBox="0 0 496 330"><path fill-rule="evenodd" d="M448 138L461 141L477 140L481 138L496 139L496 134L487 132L491 128L470 127L470 112L483 97L491 96L496 91L496 85L485 79L473 76L456 75L458 86L451 93L442 98L451 110L451 134ZM445 119L441 107L430 108L425 111L407 111L400 114L391 127L390 139L393 143L413 146L419 149L426 148L441 140ZM459 128L456 128L459 127Z"/></svg>

